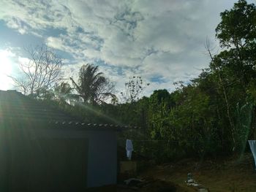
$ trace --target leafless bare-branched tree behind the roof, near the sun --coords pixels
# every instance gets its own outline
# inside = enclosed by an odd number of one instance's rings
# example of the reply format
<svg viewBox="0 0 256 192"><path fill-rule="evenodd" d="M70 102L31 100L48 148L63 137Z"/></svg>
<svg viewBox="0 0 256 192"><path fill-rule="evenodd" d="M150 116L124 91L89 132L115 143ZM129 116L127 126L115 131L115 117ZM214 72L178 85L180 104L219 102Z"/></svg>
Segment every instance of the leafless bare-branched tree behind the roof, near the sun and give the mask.
<svg viewBox="0 0 256 192"><path fill-rule="evenodd" d="M11 77L25 95L34 95L42 88L52 88L62 79L62 59L44 45L26 48L29 62L19 64L22 75Z"/></svg>

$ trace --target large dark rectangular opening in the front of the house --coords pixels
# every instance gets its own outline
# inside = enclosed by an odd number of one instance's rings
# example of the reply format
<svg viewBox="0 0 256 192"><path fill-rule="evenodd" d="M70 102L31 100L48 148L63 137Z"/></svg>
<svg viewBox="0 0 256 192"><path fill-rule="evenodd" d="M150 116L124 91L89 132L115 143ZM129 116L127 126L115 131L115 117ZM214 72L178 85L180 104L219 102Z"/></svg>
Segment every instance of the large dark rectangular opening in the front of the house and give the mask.
<svg viewBox="0 0 256 192"><path fill-rule="evenodd" d="M31 191L85 191L88 139L37 139L32 151Z"/></svg>

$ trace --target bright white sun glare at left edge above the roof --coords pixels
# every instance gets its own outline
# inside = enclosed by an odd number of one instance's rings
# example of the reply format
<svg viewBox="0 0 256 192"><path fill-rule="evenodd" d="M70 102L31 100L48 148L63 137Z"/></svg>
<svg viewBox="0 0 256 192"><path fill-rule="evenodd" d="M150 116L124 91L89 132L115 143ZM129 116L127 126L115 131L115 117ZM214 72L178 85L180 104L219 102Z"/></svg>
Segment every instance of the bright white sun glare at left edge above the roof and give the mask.
<svg viewBox="0 0 256 192"><path fill-rule="evenodd" d="M7 90L12 87L12 80L8 75L12 73L11 57L13 55L10 50L0 50L0 90Z"/></svg>

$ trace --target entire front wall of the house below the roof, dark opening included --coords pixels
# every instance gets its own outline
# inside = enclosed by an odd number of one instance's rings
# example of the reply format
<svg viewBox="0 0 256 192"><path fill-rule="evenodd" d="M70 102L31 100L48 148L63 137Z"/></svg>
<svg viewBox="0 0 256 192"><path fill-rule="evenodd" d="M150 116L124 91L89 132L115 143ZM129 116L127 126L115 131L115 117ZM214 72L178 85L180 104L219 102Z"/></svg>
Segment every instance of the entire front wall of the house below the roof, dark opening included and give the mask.
<svg viewBox="0 0 256 192"><path fill-rule="evenodd" d="M0 144L0 191L36 190L37 185L49 186L42 191L61 191L61 183L67 185L66 190L72 183L84 182L87 188L116 184L115 131L2 128Z"/></svg>

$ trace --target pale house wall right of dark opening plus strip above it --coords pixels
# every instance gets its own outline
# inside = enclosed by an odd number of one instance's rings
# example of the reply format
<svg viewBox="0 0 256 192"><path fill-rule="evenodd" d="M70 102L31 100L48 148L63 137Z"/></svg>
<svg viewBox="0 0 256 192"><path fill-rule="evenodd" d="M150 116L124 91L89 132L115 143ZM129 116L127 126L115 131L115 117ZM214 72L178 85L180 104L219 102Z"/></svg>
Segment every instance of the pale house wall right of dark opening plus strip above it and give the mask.
<svg viewBox="0 0 256 192"><path fill-rule="evenodd" d="M109 130L38 130L41 137L88 138L87 187L116 184L117 142L116 132Z"/></svg>

